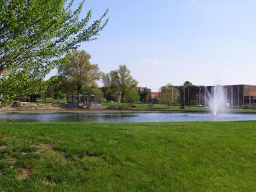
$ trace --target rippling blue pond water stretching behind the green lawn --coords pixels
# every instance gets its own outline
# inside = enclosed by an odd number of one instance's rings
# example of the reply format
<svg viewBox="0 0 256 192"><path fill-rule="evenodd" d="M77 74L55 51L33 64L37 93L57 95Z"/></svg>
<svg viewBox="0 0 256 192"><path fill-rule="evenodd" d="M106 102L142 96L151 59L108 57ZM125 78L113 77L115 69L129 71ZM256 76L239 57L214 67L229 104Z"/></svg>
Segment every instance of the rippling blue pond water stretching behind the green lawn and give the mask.
<svg viewBox="0 0 256 192"><path fill-rule="evenodd" d="M0 122L189 122L189 121L256 121L255 115L208 113L41 113L0 114Z"/></svg>

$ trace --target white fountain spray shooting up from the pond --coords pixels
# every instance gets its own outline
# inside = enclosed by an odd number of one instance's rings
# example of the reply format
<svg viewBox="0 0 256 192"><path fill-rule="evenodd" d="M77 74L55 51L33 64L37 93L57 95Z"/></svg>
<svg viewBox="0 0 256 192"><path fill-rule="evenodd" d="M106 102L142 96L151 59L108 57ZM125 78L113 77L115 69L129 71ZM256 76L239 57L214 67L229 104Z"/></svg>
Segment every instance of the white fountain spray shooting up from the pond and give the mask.
<svg viewBox="0 0 256 192"><path fill-rule="evenodd" d="M217 115L219 110L226 108L226 98L223 87L215 85L212 90L208 90L208 104L213 115Z"/></svg>

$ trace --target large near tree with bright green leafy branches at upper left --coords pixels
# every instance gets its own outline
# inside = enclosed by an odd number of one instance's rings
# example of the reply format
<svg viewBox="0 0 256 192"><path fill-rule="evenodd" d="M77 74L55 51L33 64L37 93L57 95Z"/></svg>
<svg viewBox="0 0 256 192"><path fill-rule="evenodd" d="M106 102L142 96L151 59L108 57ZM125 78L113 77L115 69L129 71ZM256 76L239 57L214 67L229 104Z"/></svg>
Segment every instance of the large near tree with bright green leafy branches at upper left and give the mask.
<svg viewBox="0 0 256 192"><path fill-rule="evenodd" d="M73 2L0 1L0 102L27 94L31 79L43 78L80 43L96 40L108 22L108 10L91 22L92 10L79 18L85 0L77 8Z"/></svg>

